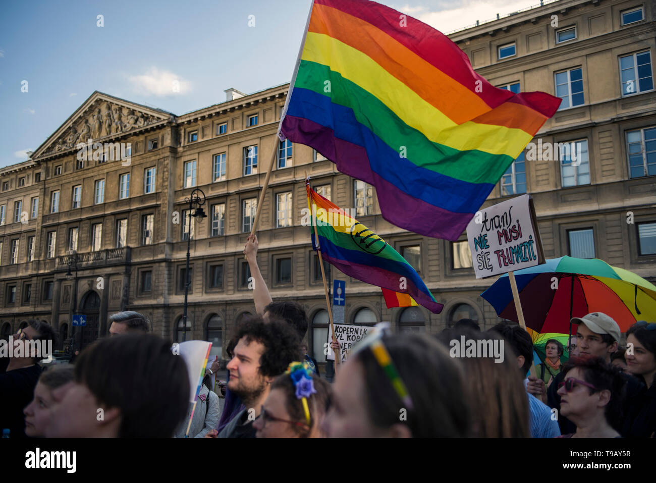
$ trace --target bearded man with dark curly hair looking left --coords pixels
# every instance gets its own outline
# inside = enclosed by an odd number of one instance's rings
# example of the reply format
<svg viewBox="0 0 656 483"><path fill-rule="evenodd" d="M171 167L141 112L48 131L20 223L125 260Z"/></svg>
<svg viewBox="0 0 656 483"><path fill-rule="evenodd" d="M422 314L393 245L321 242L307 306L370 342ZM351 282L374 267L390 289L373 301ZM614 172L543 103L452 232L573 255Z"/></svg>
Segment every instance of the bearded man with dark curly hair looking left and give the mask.
<svg viewBox="0 0 656 483"><path fill-rule="evenodd" d="M286 322L273 319L265 323L261 317L242 322L237 331L234 357L226 369L230 371L228 389L241 398L245 409L218 433L218 438L255 438L253 421L269 395L270 385L287 366L300 358L300 340Z"/></svg>

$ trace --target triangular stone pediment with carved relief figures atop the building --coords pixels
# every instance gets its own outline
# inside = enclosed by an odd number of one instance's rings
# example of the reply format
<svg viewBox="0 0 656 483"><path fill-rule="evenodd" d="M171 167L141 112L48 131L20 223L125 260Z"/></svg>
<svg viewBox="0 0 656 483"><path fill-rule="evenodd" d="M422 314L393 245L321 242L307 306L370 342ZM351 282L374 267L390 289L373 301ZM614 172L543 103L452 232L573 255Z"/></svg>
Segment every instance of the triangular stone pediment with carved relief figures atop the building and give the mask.
<svg viewBox="0 0 656 483"><path fill-rule="evenodd" d="M171 119L173 114L94 92L31 157L50 156L87 144L89 139L111 140L129 131Z"/></svg>

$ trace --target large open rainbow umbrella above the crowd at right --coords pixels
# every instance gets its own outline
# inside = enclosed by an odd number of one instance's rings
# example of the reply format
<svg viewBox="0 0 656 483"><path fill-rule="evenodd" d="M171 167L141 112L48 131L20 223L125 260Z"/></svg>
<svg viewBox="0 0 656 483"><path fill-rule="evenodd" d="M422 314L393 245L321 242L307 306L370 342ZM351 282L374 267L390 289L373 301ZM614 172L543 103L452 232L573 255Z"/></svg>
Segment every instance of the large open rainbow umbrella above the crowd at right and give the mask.
<svg viewBox="0 0 656 483"><path fill-rule="evenodd" d="M656 319L656 285L600 259L565 256L514 273L526 326L541 334L571 333L569 320L590 312L611 316L623 332ZM481 295L499 316L518 320L508 274Z"/></svg>

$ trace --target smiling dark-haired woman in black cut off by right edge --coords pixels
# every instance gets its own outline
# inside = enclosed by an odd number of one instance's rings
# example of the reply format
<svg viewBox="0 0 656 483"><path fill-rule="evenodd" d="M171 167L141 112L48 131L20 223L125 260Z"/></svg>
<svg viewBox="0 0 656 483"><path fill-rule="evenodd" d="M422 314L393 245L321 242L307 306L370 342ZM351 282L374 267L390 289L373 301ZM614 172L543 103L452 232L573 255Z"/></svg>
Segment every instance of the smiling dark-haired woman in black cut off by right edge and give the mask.
<svg viewBox="0 0 656 483"><path fill-rule="evenodd" d="M653 438L656 436L656 323L641 320L629 327L626 346L626 371L645 385L631 398L623 436Z"/></svg>

